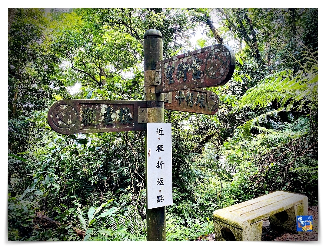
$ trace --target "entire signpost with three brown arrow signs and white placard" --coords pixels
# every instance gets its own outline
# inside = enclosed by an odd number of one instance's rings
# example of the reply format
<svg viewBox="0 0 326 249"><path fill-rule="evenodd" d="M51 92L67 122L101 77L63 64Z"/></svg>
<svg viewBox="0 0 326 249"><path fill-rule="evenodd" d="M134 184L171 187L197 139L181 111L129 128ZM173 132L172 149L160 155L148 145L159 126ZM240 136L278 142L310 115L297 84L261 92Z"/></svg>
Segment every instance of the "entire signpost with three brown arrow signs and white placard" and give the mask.
<svg viewBox="0 0 326 249"><path fill-rule="evenodd" d="M162 34L144 34L144 96L140 100L62 99L52 104L48 123L61 134L145 130L147 241L166 241L165 206L172 204L171 124L164 108L215 114L213 91L234 71L230 47L215 44L163 60Z"/></svg>

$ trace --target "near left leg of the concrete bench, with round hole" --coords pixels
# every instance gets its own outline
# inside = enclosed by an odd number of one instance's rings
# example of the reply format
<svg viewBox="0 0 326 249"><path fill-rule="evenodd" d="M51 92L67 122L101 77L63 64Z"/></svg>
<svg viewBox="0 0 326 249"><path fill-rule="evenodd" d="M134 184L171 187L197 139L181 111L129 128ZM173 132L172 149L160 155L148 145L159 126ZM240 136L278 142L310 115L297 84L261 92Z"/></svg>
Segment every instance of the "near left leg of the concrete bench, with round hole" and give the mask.
<svg viewBox="0 0 326 249"><path fill-rule="evenodd" d="M215 241L261 241L263 221L236 228L214 221Z"/></svg>

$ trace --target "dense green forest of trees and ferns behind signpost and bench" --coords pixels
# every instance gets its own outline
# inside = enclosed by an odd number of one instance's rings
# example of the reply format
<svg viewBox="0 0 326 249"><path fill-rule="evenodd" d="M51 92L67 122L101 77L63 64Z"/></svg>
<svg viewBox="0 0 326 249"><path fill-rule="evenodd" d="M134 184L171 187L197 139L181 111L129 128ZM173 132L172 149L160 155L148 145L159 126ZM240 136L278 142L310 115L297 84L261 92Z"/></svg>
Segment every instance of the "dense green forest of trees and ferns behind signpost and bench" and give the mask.
<svg viewBox="0 0 326 249"><path fill-rule="evenodd" d="M275 190L318 205L317 8L8 8L8 240L146 240L144 131L60 135L46 114L62 98L143 100L151 28L164 58L224 43L237 60L207 89L215 115L165 110L167 240L209 234L214 210Z"/></svg>

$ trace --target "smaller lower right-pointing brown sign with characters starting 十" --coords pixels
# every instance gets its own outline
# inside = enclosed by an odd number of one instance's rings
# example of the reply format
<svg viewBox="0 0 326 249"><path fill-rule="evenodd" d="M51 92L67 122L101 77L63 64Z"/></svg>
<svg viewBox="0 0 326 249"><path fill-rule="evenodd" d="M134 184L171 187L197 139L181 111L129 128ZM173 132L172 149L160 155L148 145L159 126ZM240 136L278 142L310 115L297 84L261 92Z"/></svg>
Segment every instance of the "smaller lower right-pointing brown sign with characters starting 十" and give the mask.
<svg viewBox="0 0 326 249"><path fill-rule="evenodd" d="M167 95L167 93L165 93ZM215 92L203 89L178 90L168 93L164 109L215 114L219 107L219 99Z"/></svg>

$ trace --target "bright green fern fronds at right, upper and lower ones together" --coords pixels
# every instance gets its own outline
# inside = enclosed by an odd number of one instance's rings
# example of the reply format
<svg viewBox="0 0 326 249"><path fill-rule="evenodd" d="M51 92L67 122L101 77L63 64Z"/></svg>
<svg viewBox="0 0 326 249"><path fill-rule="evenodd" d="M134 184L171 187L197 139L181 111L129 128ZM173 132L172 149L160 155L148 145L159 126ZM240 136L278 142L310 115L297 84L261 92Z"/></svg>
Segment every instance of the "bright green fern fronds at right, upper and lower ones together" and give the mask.
<svg viewBox="0 0 326 249"><path fill-rule="evenodd" d="M318 54L305 47L302 55L306 60L304 65L292 55L290 56L300 64L303 70L294 74L292 70L285 69L267 75L256 86L248 89L240 99L239 108L266 108L274 100L280 104L277 110L263 113L240 125L238 129L245 138L250 137L252 127L259 132L270 132L258 126L268 123L269 117L277 116L280 111L303 111L304 106L308 105L312 112L309 114L318 115Z"/></svg>

